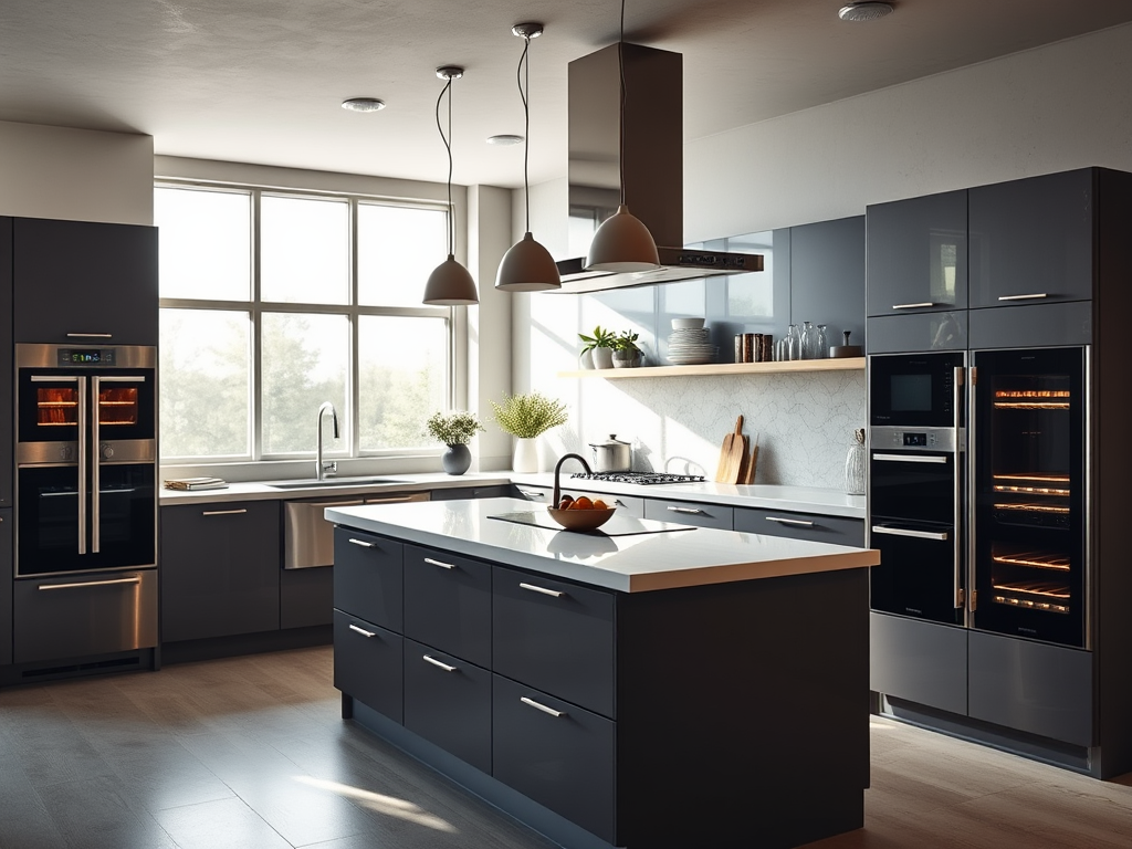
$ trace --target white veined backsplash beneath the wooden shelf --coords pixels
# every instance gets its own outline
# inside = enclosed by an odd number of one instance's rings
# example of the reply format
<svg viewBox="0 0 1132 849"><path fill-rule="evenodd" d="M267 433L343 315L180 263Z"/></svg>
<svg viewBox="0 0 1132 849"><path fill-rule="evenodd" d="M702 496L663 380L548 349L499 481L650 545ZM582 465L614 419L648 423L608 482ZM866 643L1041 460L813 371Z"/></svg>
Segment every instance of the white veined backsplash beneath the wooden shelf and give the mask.
<svg viewBox="0 0 1132 849"><path fill-rule="evenodd" d="M864 371L577 380L567 426L548 434L551 455L591 456L616 434L633 468L712 479L723 437L740 413L758 434L756 483L840 489L855 428L866 426Z"/></svg>

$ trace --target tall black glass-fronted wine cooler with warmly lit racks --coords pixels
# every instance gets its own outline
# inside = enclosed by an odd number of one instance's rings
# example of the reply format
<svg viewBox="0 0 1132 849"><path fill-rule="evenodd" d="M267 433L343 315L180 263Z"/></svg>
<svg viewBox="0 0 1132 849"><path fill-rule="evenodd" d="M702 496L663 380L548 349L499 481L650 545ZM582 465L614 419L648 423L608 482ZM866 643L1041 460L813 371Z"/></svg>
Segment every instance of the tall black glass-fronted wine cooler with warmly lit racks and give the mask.
<svg viewBox="0 0 1132 849"><path fill-rule="evenodd" d="M1084 646L1084 351L977 351L972 365L971 625Z"/></svg>

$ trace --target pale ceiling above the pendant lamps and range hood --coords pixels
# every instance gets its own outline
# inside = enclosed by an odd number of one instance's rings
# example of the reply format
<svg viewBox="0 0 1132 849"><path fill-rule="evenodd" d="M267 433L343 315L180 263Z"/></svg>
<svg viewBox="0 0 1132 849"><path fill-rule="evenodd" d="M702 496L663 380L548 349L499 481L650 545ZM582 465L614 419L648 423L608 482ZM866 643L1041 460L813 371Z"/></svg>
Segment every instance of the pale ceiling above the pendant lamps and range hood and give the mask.
<svg viewBox="0 0 1132 849"><path fill-rule="evenodd" d="M684 54L686 139L1132 20L1127 0L629 0L626 40ZM516 186L511 27L531 48L531 179L566 173L566 65L617 38L617 0L3 0L0 120L144 132L158 154L443 181L435 69L454 84L457 183ZM371 95L381 112L338 104Z"/></svg>

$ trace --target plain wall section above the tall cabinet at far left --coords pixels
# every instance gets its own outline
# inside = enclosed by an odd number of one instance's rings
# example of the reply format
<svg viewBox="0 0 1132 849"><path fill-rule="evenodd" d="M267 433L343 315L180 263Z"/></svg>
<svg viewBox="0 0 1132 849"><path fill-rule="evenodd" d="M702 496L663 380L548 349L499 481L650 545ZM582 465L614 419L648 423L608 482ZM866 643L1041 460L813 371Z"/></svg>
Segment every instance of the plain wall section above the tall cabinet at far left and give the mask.
<svg viewBox="0 0 1132 849"><path fill-rule="evenodd" d="M153 224L153 137L0 121L0 215Z"/></svg>

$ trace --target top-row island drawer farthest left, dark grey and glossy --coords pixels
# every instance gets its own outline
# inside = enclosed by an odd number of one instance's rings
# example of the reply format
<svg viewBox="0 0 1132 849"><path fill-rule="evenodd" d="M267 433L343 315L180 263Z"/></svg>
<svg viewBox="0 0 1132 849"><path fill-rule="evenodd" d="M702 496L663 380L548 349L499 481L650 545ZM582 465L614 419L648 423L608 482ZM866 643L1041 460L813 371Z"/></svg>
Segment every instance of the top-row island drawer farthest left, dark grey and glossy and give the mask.
<svg viewBox="0 0 1132 849"><path fill-rule="evenodd" d="M392 631L402 629L400 542L334 529L334 607Z"/></svg>

